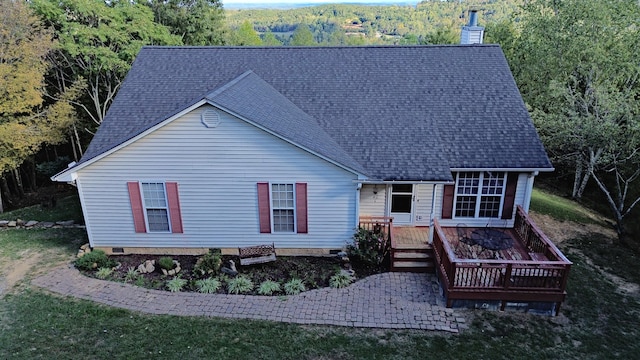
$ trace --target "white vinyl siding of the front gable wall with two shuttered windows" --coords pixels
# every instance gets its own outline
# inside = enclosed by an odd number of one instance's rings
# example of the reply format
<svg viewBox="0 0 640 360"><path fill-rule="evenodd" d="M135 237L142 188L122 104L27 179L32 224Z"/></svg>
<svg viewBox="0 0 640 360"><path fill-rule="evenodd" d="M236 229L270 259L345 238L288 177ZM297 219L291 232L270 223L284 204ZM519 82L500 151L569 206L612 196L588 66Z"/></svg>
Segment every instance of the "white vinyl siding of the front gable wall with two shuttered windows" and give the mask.
<svg viewBox="0 0 640 360"><path fill-rule="evenodd" d="M353 235L357 176L247 122L203 106L78 172L92 246L342 248ZM180 184L181 234L134 232L127 182ZM259 182L307 183L308 233L260 234Z"/></svg>

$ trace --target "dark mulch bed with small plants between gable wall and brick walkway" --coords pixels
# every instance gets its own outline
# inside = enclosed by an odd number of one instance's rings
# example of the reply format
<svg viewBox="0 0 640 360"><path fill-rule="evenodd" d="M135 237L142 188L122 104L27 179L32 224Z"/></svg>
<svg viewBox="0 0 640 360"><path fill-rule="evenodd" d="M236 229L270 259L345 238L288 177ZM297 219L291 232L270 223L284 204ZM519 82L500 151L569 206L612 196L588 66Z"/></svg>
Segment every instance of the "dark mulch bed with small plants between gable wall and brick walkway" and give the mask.
<svg viewBox="0 0 640 360"><path fill-rule="evenodd" d="M157 265L161 255L122 255L110 256L111 259L120 263L107 280L128 282L137 286L167 290L166 281L171 280L173 276L167 276L162 273ZM179 276L188 280L183 291L197 291L195 281L206 278L193 272L193 268L199 256L190 255L174 255L172 259L180 263L181 271ZM137 269L145 260L156 260L156 270L148 274L140 274L136 279L126 279L129 269ZM273 280L281 285L287 281L297 278L304 281L307 290L323 288L329 286L329 279L335 275L340 269L344 268L343 262L338 257L313 257L313 256L278 256L274 262L265 264L254 264L248 266L240 266L237 256L223 256L223 266L228 266L228 261L233 260L239 275L249 277L255 285L252 294L257 294L257 288L265 280ZM355 271L355 277L362 279L364 277L388 271L388 266L367 266L357 261L351 261L351 267ZM85 275L95 277L95 272L85 272ZM213 275L215 277L216 275ZM218 293L225 294L226 288L223 286ZM281 294L279 294L281 295Z"/></svg>

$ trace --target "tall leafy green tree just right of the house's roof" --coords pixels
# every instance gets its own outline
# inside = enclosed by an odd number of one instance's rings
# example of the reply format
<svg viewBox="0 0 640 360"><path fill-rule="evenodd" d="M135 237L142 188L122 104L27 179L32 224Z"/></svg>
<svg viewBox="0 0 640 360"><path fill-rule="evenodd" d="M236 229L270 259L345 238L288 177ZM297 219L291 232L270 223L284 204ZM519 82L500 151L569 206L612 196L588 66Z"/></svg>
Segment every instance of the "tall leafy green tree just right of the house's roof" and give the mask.
<svg viewBox="0 0 640 360"><path fill-rule="evenodd" d="M608 129L620 121L615 99L626 97L618 93L637 86L637 18L633 0L525 6L511 65L554 160L574 169L575 198L607 159Z"/></svg>

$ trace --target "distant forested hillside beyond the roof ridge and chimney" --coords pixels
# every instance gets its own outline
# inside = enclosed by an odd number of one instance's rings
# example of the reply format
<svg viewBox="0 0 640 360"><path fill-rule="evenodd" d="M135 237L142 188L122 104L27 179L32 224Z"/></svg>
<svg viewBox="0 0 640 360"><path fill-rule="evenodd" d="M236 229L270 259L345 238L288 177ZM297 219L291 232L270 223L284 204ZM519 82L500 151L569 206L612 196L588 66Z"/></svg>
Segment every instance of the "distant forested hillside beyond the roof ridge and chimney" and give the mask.
<svg viewBox="0 0 640 360"><path fill-rule="evenodd" d="M271 32L288 44L300 24L306 25L319 44L452 43L459 39L470 9L487 25L512 17L523 0L425 1L417 5L325 4L293 9L227 9L232 29L248 21L261 34ZM270 5L271 6L271 5ZM345 40L347 38L347 40Z"/></svg>

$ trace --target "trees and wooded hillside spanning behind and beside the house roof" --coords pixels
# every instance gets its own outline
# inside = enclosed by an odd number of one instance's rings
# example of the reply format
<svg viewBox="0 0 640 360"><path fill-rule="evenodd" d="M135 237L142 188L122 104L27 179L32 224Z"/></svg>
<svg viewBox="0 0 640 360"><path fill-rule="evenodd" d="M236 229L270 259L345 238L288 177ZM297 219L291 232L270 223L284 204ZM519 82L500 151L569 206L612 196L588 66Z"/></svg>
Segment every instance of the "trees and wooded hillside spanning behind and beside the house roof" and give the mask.
<svg viewBox="0 0 640 360"><path fill-rule="evenodd" d="M77 161L144 45L499 43L557 176L640 244L640 5L424 1L225 11L218 0L0 0L0 212ZM592 191L593 190L593 191Z"/></svg>

